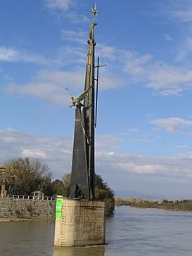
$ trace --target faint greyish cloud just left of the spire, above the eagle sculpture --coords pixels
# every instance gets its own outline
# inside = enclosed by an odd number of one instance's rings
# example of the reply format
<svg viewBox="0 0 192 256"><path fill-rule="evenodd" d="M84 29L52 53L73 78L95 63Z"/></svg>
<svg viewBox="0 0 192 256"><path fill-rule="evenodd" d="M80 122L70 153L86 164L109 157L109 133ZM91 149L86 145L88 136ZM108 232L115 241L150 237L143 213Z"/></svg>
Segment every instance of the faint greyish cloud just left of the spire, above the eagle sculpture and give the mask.
<svg viewBox="0 0 192 256"><path fill-rule="evenodd" d="M70 105L71 100L68 87L72 94L79 94L79 88L84 88L84 72L75 70L72 72L42 70L32 82L20 85L11 83L7 86L7 92L14 95L29 95L41 98L43 101L57 105Z"/></svg>

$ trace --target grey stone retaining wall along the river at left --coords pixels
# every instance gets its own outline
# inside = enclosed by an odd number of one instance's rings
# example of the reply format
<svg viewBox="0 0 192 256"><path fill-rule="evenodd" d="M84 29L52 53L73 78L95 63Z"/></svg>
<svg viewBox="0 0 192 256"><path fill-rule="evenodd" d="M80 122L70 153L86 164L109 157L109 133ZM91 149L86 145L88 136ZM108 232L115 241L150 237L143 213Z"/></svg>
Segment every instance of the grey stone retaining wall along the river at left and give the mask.
<svg viewBox="0 0 192 256"><path fill-rule="evenodd" d="M0 198L0 218L54 219L56 201Z"/></svg>

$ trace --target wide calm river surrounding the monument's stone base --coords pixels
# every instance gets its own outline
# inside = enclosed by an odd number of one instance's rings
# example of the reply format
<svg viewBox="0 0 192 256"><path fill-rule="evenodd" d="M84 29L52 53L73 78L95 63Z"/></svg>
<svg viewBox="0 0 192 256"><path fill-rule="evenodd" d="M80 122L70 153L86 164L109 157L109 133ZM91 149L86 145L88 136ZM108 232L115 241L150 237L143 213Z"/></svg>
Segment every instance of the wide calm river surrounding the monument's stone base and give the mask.
<svg viewBox="0 0 192 256"><path fill-rule="evenodd" d="M192 212L116 207L106 245L53 246L54 222L0 222L1 256L191 256Z"/></svg>

